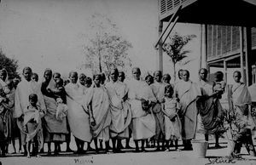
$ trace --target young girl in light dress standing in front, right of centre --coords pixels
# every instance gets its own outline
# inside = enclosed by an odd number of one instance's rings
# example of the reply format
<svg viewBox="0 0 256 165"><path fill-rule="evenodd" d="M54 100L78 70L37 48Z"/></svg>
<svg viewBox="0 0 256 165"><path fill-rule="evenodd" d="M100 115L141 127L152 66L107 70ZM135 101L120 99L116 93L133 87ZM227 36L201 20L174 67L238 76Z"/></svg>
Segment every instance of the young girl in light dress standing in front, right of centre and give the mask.
<svg viewBox="0 0 256 165"><path fill-rule="evenodd" d="M177 99L172 96L172 85L167 85L165 87L165 101L162 103L162 111L165 114L166 148L170 147L170 140L175 140L175 149L178 150L177 140L181 138L181 122L177 115L177 111L179 111L180 106Z"/></svg>

